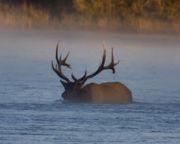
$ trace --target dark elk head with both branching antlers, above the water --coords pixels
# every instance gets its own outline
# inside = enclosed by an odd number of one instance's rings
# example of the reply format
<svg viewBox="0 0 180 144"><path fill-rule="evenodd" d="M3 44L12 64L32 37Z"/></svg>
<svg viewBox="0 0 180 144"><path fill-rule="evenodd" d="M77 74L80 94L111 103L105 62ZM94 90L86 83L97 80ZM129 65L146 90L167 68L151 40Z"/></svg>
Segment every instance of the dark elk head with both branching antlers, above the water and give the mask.
<svg viewBox="0 0 180 144"><path fill-rule="evenodd" d="M87 74L87 70L85 70L84 75L80 78L76 78L72 73L71 75L72 80L70 80L67 76L65 76L65 74L62 71L62 67L67 67L69 69L71 68L70 64L67 63L68 56L69 56L69 52L64 58L62 57L62 54L60 54L59 56L58 44L57 44L56 54L55 54L56 64L54 65L52 61L52 69L60 77L60 82L64 86L65 92L62 94L62 97L64 99L77 99L77 97L82 98L82 95L80 95L79 93L88 79L98 75L103 70L112 70L112 72L115 73L115 66L119 63L119 61L114 62L114 55L112 49L111 62L108 65L105 65L106 50L104 49L102 61L94 73Z"/></svg>

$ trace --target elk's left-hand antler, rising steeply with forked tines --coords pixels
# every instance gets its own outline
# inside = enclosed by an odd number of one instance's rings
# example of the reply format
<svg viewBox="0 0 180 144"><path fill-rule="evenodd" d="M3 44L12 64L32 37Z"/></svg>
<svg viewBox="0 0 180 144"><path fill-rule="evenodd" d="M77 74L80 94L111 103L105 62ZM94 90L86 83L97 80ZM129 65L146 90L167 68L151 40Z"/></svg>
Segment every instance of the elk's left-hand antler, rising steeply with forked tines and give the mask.
<svg viewBox="0 0 180 144"><path fill-rule="evenodd" d="M52 69L60 78L62 78L66 82L70 82L70 80L63 74L62 69L61 69L61 66L71 68L71 66L66 62L69 56L69 52L67 53L65 58L62 58L62 55L60 55L60 57L58 58L58 46L59 46L59 43L56 46L56 65L54 66L53 61L52 61Z"/></svg>

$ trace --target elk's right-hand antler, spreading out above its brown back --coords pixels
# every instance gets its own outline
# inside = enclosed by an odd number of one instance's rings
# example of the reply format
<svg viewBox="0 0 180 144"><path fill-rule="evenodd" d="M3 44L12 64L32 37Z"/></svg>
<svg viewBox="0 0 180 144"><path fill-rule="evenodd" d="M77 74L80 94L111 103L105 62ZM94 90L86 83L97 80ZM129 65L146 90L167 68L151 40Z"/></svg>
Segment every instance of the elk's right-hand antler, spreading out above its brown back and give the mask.
<svg viewBox="0 0 180 144"><path fill-rule="evenodd" d="M111 63L109 65L105 66L105 61L106 61L106 50L104 49L102 62L99 65L98 69L94 73L92 73L92 74L90 74L88 76L87 76L87 70L86 70L84 75L80 79L75 78L75 76L72 74L73 80L74 81L83 81L83 83L85 83L88 79L98 75L103 70L108 70L108 69L112 70L112 72L115 73L115 66L117 64L119 64L120 61L118 60L117 62L114 62L113 48L111 50Z"/></svg>

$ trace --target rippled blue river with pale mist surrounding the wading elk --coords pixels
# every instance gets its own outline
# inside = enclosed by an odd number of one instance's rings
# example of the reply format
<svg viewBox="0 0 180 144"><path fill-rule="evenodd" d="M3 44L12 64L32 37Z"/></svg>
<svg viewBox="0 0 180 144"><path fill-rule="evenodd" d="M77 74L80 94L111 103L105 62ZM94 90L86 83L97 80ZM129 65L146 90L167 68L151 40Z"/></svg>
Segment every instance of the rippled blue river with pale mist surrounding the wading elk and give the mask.
<svg viewBox="0 0 180 144"><path fill-rule="evenodd" d="M94 72L104 44L120 60L88 82L121 81L132 104L63 102L51 68L55 47L70 51L64 69ZM74 30L0 28L1 144L180 143L180 37Z"/></svg>

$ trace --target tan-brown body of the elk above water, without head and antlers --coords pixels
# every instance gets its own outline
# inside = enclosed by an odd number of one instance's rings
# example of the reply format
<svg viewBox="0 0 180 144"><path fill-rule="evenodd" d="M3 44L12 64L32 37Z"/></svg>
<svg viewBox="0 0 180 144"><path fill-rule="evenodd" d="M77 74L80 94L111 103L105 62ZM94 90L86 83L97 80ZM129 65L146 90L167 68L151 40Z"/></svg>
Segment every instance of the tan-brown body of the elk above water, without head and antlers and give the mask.
<svg viewBox="0 0 180 144"><path fill-rule="evenodd" d="M120 82L90 83L81 89L80 95L92 103L131 103L131 91Z"/></svg>

